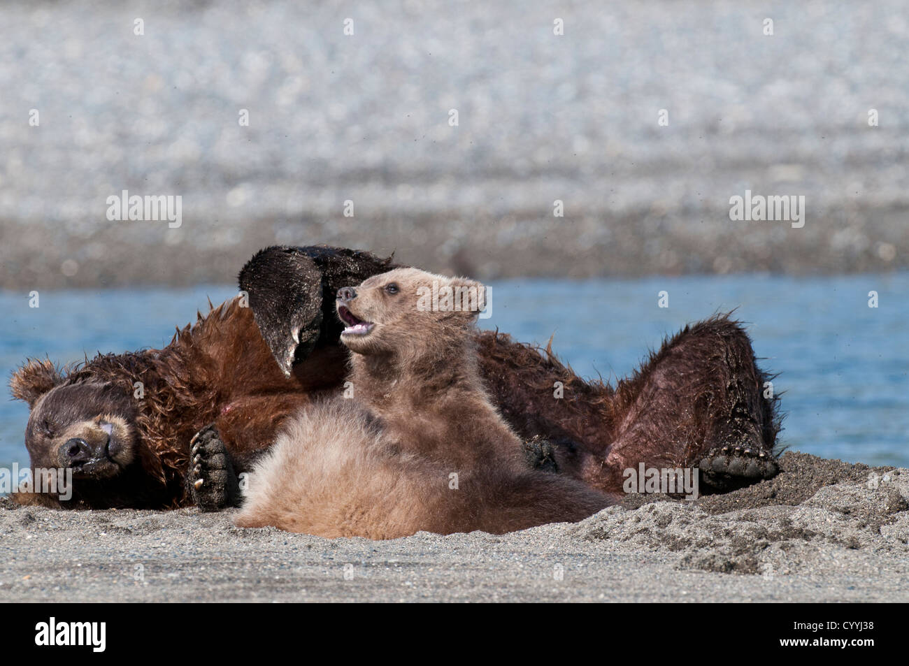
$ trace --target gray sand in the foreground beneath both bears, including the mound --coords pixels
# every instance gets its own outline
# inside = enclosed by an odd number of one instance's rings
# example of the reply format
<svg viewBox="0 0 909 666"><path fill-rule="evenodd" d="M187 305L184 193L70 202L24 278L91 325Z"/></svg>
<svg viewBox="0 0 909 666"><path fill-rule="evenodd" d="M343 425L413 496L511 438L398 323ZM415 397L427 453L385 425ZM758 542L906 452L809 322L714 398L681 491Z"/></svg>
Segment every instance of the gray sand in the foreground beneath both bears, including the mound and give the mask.
<svg viewBox="0 0 909 666"><path fill-rule="evenodd" d="M5 501L0 600L909 601L909 470L792 452L781 469L697 502L629 496L577 524L391 542Z"/></svg>

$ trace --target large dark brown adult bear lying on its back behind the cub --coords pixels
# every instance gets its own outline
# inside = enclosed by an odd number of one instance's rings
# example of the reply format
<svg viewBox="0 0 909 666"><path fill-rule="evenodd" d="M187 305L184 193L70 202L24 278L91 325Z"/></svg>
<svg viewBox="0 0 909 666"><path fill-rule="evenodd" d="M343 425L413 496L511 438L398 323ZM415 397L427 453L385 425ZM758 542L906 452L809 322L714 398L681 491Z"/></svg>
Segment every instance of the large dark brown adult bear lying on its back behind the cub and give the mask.
<svg viewBox="0 0 909 666"><path fill-rule="evenodd" d="M394 267L341 248L266 248L240 273L249 308L225 303L162 350L105 354L68 373L26 363L11 387L31 407L31 466L74 472L64 506L237 502L236 474L290 413L343 381L337 290ZM489 393L535 466L606 492L620 491L622 472L639 462L700 466L721 490L776 471L775 400L764 398L747 334L726 317L686 327L616 387L584 382L548 350L503 333L478 333L477 343ZM61 505L50 494L14 499Z"/></svg>

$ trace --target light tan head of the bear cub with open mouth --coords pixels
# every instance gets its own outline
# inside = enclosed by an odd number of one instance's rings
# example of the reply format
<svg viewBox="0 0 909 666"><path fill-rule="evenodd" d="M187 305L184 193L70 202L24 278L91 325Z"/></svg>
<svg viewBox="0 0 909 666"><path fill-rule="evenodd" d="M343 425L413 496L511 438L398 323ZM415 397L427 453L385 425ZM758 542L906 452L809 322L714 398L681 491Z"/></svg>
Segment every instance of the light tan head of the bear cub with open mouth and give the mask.
<svg viewBox="0 0 909 666"><path fill-rule="evenodd" d="M474 280L397 268L338 290L335 306L352 352L416 358L469 340L485 303Z"/></svg>

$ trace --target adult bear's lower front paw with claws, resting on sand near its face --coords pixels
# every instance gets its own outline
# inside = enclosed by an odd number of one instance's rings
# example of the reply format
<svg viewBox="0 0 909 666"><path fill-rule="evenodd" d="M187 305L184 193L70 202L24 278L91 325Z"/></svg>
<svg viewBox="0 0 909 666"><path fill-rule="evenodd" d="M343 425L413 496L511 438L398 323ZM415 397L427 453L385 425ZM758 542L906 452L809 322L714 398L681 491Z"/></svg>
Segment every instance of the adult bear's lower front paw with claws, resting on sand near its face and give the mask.
<svg viewBox="0 0 909 666"><path fill-rule="evenodd" d="M186 487L200 511L221 511L239 502L234 465L214 425L196 432L189 442Z"/></svg>

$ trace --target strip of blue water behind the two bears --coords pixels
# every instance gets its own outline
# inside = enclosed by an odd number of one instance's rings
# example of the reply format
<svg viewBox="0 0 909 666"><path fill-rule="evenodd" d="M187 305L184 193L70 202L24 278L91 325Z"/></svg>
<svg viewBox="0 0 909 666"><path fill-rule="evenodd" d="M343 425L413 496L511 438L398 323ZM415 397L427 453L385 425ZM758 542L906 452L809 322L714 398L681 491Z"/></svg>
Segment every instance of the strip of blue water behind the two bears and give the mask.
<svg viewBox="0 0 909 666"><path fill-rule="evenodd" d="M684 323L735 307L763 367L780 376L791 449L850 462L909 467L909 273L835 278L764 275L643 280L510 280L491 283L492 317L523 342L553 348L584 376L629 373L648 347ZM868 307L868 292L879 306ZM669 307L658 307L658 293ZM220 303L231 286L186 289L0 292L0 371L26 356L57 362L85 353L160 347L175 325ZM0 401L0 464L27 462L24 403Z"/></svg>

